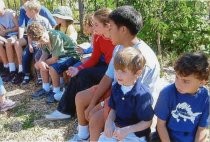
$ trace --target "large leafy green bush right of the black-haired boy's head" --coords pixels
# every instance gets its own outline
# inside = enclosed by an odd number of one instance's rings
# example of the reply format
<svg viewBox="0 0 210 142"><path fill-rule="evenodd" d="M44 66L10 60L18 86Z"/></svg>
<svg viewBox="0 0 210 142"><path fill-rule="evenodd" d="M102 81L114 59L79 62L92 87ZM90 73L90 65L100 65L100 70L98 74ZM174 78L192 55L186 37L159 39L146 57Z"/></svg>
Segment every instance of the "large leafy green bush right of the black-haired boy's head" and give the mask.
<svg viewBox="0 0 210 142"><path fill-rule="evenodd" d="M155 49L157 33L160 33L161 47L165 54L172 51L180 54L197 50L210 53L210 27L203 18L207 15L205 2L147 1L138 7L145 17L139 37Z"/></svg>

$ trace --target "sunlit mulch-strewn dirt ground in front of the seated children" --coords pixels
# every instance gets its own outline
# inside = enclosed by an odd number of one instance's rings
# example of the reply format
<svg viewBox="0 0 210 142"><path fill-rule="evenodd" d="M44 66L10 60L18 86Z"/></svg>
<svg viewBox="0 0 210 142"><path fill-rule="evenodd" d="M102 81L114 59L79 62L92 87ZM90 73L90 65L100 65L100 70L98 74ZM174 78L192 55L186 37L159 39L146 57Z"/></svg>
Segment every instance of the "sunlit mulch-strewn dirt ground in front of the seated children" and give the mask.
<svg viewBox="0 0 210 142"><path fill-rule="evenodd" d="M168 82L174 79L172 68L163 69ZM56 109L45 99L33 100L31 94L38 89L33 82L27 86L5 84L7 96L16 101L16 107L0 113L0 141L67 141L76 133L76 117L62 121L48 121L44 115ZM40 86L41 87L41 86Z"/></svg>

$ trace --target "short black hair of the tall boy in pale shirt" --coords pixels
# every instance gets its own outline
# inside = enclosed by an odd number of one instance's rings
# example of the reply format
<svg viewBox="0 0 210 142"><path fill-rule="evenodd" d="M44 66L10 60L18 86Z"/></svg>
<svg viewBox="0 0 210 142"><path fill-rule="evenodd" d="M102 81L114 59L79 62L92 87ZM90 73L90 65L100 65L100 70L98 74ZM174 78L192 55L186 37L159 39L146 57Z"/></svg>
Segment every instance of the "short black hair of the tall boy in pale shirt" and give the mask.
<svg viewBox="0 0 210 142"><path fill-rule="evenodd" d="M125 26L132 35L136 35L143 26L143 19L132 6L121 6L109 14L109 19L112 20L118 27Z"/></svg>

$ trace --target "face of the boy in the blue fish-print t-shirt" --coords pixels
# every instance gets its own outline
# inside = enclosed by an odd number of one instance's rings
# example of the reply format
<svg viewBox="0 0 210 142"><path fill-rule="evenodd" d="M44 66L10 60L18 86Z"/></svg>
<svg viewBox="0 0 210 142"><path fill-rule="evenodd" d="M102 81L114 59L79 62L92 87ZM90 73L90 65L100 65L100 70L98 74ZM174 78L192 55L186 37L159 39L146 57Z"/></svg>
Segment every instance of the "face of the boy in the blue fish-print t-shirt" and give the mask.
<svg viewBox="0 0 210 142"><path fill-rule="evenodd" d="M198 88L204 84L204 80L197 79L193 74L186 77L176 74L175 86L177 91L182 94L194 94L197 92Z"/></svg>

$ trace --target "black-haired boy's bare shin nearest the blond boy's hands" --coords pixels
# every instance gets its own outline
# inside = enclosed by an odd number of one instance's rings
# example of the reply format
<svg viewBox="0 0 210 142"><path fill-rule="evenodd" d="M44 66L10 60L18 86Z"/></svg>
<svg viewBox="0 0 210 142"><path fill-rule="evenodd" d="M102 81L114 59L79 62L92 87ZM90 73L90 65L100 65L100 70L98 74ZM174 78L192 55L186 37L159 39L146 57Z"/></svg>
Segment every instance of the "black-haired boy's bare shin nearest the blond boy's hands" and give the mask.
<svg viewBox="0 0 210 142"><path fill-rule="evenodd" d="M90 141L98 141L100 133L103 132L104 124L103 109L91 115L89 121Z"/></svg>

